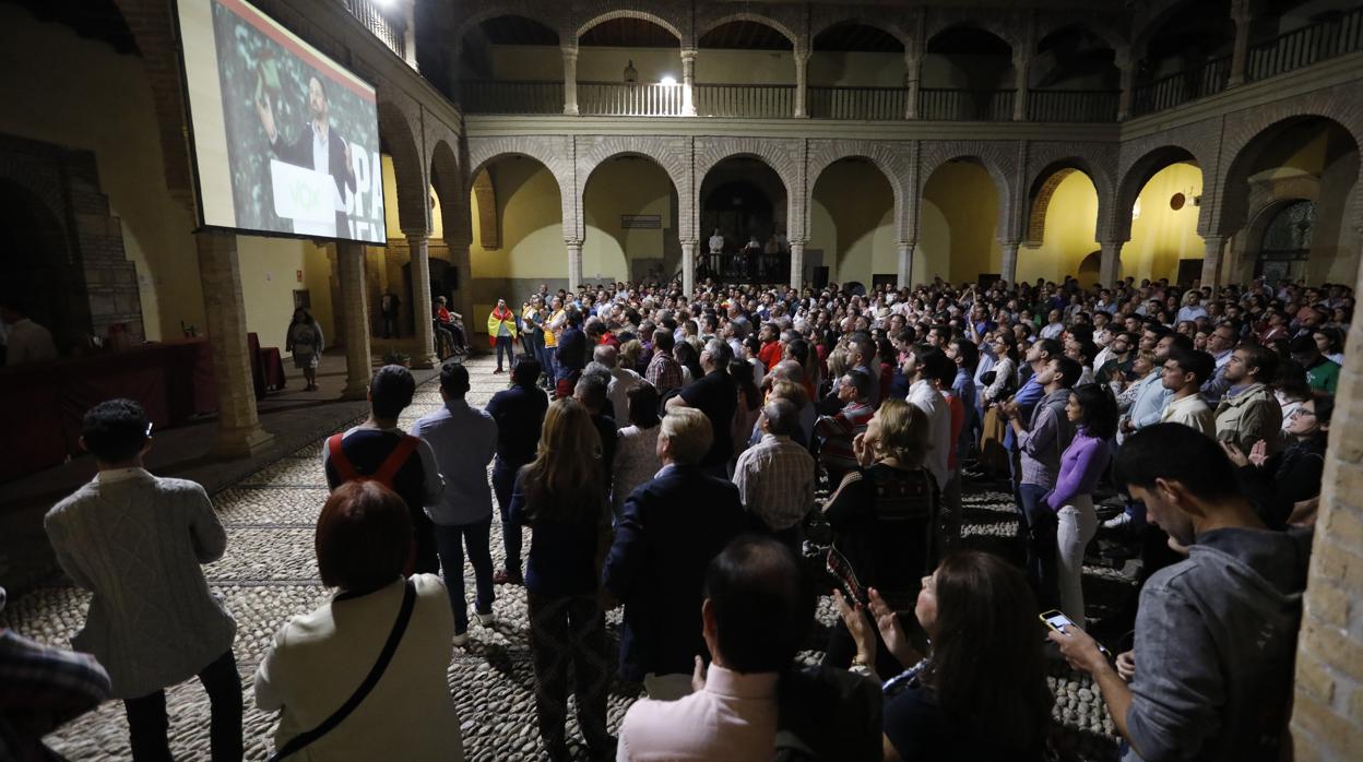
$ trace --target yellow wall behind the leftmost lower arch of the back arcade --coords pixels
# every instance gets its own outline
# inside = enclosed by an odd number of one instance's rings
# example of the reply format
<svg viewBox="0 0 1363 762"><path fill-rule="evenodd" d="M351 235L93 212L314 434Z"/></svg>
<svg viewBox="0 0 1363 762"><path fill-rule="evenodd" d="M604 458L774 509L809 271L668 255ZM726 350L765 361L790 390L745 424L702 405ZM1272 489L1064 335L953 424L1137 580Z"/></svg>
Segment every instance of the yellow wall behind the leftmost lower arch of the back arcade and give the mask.
<svg viewBox="0 0 1363 762"><path fill-rule="evenodd" d="M566 273L563 207L553 174L534 159L517 157L496 162L489 172L502 219L502 248L483 248L478 200L470 192L473 244L469 255L473 277L536 278L547 273Z"/></svg>

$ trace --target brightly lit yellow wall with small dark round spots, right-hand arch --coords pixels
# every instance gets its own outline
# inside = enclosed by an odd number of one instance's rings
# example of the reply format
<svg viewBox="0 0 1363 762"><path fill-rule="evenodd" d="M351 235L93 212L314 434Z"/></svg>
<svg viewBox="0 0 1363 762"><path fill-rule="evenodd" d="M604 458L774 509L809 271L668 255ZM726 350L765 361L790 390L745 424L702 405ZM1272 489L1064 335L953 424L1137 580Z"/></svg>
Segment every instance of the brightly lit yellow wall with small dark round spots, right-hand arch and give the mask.
<svg viewBox="0 0 1363 762"><path fill-rule="evenodd" d="M1183 194L1183 209L1169 209L1174 194ZM1159 279L1178 277L1180 259L1204 259L1206 244L1197 233L1199 207L1193 198L1202 195L1202 170L1191 164L1172 164L1154 173L1141 188L1141 217L1131 221L1131 240L1122 247L1122 273Z"/></svg>

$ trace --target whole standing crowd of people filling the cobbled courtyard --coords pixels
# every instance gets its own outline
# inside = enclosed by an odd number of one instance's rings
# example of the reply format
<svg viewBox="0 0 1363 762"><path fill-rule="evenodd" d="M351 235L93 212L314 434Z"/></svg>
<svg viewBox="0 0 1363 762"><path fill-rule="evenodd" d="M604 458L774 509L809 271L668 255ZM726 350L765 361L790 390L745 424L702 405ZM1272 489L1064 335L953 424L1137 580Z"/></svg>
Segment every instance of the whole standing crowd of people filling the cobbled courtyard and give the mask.
<svg viewBox="0 0 1363 762"><path fill-rule="evenodd" d="M405 432L416 384L384 367L368 420L327 440L316 555L337 594L275 635L256 703L281 713L281 757L462 758L451 652L523 585L552 759L570 673L594 758L1054 758L1048 653L1092 676L1126 759L1277 758L1352 309L1340 285L1131 279L499 301L510 378L484 409L447 361L444 406ZM124 699L134 758L165 759L164 688L198 675L214 759L237 759L233 620L199 571L225 545L211 504L142 469L135 402L95 406L82 435L99 474L46 528L94 592L80 686L105 684L46 691ZM1013 495L1014 537L966 530L965 485ZM1101 620L1084 577L1100 533L1142 562ZM1109 657L1090 623L1130 647ZM617 735L613 680L645 695ZM71 713L5 710L0 739Z"/></svg>

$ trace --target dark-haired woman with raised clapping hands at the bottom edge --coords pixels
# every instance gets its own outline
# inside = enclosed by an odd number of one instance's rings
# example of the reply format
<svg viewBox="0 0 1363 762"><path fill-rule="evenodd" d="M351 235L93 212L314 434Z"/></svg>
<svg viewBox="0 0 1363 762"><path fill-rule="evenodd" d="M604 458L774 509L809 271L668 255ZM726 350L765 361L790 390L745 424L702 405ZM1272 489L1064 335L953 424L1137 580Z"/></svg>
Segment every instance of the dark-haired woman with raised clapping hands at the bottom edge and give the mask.
<svg viewBox="0 0 1363 762"><path fill-rule="evenodd" d="M886 761L1044 758L1055 699L1045 683L1036 598L1022 573L979 551L943 559L923 579L913 607L932 643L927 656L909 645L878 590L864 607L841 593L834 598L856 642L853 669L887 679ZM902 671L871 667L878 634Z"/></svg>

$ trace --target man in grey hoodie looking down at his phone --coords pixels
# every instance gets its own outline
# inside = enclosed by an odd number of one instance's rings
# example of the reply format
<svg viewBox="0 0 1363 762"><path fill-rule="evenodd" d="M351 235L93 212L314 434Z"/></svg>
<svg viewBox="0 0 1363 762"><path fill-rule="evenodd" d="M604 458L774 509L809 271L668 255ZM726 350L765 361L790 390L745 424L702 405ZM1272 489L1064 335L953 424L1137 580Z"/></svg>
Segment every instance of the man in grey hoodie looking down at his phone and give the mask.
<svg viewBox="0 0 1363 762"><path fill-rule="evenodd" d="M1189 556L1141 589L1134 665L1114 668L1075 626L1051 641L1093 675L1130 743L1123 759L1278 759L1310 537L1269 530L1221 447L1186 425L1131 435L1116 473Z"/></svg>

